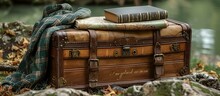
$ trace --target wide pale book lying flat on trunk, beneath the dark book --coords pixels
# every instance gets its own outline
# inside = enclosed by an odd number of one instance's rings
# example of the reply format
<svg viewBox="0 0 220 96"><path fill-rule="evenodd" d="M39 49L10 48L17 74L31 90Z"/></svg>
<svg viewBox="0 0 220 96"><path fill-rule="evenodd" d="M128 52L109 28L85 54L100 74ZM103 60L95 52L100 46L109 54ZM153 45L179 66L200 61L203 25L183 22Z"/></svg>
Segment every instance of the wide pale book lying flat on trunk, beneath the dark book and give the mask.
<svg viewBox="0 0 220 96"><path fill-rule="evenodd" d="M165 19L131 23L114 23L105 20L104 16L77 19L76 29L96 29L96 30L154 30L166 28L168 23Z"/></svg>

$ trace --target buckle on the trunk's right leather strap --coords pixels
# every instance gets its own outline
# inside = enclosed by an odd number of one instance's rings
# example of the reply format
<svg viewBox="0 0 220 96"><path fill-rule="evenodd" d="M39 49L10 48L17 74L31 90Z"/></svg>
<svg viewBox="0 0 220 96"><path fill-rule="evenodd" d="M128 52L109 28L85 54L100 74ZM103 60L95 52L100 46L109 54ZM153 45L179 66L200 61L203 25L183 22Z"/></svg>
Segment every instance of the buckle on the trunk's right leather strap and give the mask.
<svg viewBox="0 0 220 96"><path fill-rule="evenodd" d="M155 54L154 55L154 64L162 66L164 63L164 55L163 54Z"/></svg>

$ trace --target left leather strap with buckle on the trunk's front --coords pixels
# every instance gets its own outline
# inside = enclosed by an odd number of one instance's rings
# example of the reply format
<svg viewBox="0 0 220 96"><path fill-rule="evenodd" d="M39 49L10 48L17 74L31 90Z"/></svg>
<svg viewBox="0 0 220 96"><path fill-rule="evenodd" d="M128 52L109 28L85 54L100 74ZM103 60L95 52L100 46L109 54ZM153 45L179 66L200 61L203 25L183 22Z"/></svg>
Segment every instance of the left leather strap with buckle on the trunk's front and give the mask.
<svg viewBox="0 0 220 96"><path fill-rule="evenodd" d="M94 88L98 82L99 60L97 59L97 39L95 30L89 32L89 87Z"/></svg>

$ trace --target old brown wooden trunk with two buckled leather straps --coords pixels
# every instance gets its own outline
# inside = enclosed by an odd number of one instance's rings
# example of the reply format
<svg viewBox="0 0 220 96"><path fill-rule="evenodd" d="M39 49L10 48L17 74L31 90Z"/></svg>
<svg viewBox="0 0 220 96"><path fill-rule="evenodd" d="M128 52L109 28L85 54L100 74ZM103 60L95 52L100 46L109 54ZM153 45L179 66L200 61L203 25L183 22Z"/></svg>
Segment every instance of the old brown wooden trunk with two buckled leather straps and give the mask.
<svg viewBox="0 0 220 96"><path fill-rule="evenodd" d="M56 88L128 86L189 73L191 28L174 20L158 30L66 29L51 42L50 82Z"/></svg>

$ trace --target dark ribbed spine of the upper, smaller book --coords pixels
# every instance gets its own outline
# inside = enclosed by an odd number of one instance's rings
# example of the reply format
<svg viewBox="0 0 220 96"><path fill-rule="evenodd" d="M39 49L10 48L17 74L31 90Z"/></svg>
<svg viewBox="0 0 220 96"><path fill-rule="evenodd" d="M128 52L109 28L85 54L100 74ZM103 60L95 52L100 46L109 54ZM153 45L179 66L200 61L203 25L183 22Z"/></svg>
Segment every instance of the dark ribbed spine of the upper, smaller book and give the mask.
<svg viewBox="0 0 220 96"><path fill-rule="evenodd" d="M147 12L147 13L137 13L137 14L123 14L119 16L118 23L159 20L159 19L166 19L167 17L168 17L167 11Z"/></svg>

